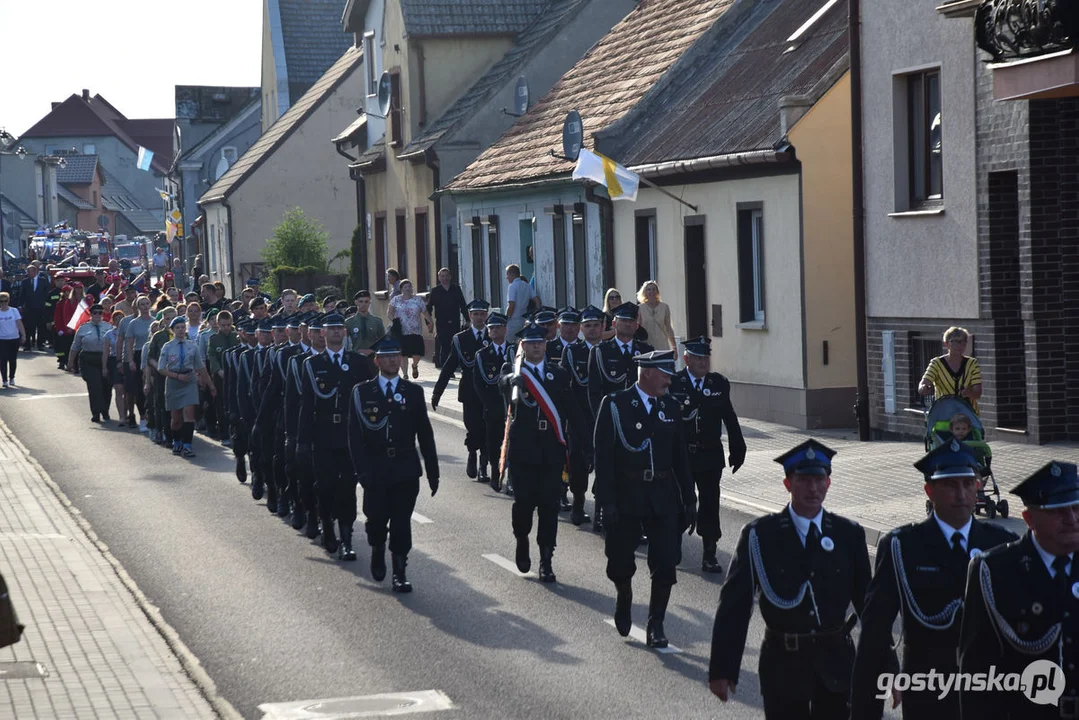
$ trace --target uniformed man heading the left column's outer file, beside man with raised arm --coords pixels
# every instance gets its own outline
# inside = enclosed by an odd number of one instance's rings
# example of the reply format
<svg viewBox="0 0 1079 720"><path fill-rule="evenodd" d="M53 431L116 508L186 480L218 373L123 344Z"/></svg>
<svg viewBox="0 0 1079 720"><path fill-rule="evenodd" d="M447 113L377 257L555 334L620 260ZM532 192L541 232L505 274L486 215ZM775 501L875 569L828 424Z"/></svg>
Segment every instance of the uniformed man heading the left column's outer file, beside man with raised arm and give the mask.
<svg viewBox="0 0 1079 720"><path fill-rule="evenodd" d="M352 389L374 377L371 361L344 349L344 317L323 318L326 352L303 364L303 392L297 432L297 462L311 464L318 492L323 547L339 559L355 560L352 526L356 521L356 475L349 457L349 399ZM338 521L341 543L333 533Z"/></svg>

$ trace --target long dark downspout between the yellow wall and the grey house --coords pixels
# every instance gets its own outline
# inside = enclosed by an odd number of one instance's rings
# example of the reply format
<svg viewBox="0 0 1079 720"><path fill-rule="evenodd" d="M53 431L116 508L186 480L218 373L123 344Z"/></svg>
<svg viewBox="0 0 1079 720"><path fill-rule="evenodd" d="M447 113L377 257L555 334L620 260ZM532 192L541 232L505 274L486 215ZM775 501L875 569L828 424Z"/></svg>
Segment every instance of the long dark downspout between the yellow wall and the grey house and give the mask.
<svg viewBox="0 0 1079 720"><path fill-rule="evenodd" d="M869 329L865 317L865 174L862 154L862 36L861 2L849 0L848 35L850 36L850 137L853 200L855 256L855 347L858 356L858 437L869 441L870 372Z"/></svg>

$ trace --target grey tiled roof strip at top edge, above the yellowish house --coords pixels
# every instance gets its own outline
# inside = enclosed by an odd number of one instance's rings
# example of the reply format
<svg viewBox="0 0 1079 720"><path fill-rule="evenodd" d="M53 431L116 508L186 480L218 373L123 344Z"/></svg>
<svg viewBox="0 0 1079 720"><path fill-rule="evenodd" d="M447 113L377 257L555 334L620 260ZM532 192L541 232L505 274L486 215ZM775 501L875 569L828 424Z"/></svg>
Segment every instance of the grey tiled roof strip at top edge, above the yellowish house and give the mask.
<svg viewBox="0 0 1079 720"><path fill-rule="evenodd" d="M516 35L551 0L400 0L410 36Z"/></svg>

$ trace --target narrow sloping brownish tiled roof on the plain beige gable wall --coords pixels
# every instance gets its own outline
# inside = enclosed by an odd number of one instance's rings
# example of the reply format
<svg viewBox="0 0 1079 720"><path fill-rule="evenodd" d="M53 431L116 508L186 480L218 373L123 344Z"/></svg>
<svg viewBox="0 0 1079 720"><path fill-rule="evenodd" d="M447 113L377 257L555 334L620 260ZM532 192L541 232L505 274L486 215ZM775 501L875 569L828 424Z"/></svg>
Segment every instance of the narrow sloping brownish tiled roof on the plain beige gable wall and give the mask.
<svg viewBox="0 0 1079 720"><path fill-rule="evenodd" d="M355 71L364 59L363 51L350 47L338 58L329 70L303 94L299 100L285 111L270 128L262 133L247 152L240 157L232 164L224 175L218 178L209 190L199 200L200 203L218 202L231 195L247 177L272 155L281 145L288 139L292 131L299 127L312 112L314 112L323 100L333 94L353 71Z"/></svg>

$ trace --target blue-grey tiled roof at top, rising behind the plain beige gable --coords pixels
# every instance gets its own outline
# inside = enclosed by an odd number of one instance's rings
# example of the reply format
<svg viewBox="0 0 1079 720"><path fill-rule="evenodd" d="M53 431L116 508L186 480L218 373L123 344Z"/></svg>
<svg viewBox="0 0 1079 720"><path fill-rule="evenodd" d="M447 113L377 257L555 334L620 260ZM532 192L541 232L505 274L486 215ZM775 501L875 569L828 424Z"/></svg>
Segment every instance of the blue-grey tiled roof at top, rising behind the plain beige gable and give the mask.
<svg viewBox="0 0 1079 720"><path fill-rule="evenodd" d="M352 46L341 27L343 0L277 0L291 101L296 101Z"/></svg>

